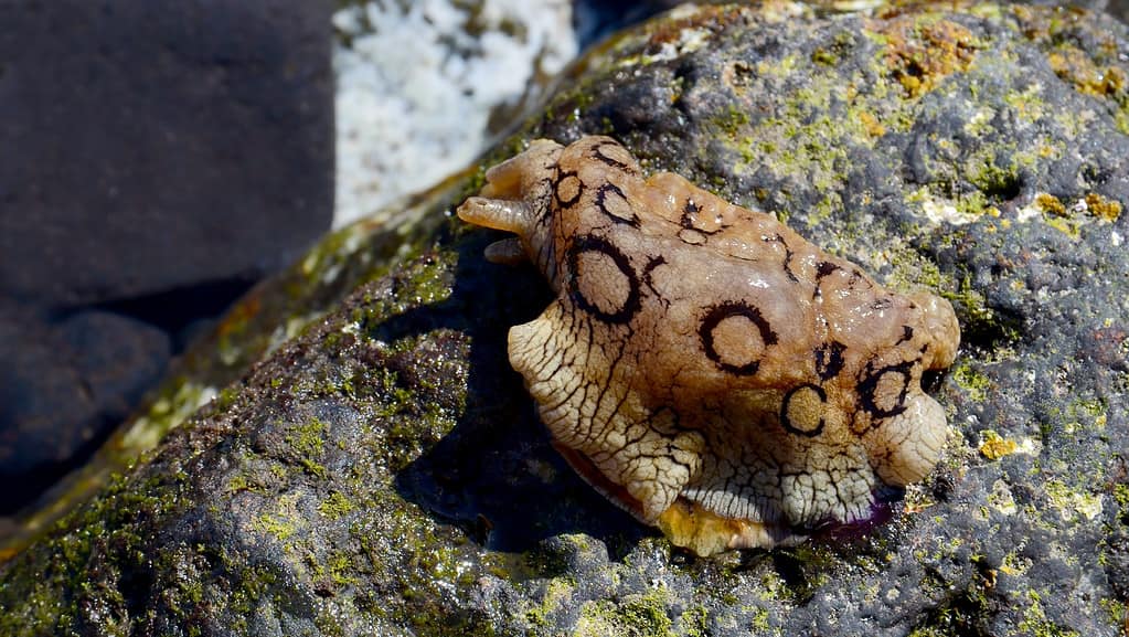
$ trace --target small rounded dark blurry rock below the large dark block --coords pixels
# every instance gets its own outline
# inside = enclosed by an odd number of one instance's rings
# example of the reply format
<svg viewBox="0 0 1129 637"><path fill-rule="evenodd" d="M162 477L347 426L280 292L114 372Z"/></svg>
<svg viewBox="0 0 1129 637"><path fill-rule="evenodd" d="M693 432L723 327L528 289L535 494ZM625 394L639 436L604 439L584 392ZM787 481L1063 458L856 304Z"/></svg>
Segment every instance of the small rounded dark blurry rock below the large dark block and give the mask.
<svg viewBox="0 0 1129 637"><path fill-rule="evenodd" d="M165 332L84 311L58 322L0 306L0 512L27 504L122 422L169 358Z"/></svg>

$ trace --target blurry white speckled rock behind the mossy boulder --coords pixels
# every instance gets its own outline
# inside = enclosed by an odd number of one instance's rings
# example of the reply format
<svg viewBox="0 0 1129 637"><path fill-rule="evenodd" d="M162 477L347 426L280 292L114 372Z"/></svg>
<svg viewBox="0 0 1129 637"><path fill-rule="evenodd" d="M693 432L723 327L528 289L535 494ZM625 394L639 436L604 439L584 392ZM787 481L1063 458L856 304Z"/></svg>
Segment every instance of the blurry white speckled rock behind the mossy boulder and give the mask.
<svg viewBox="0 0 1129 637"><path fill-rule="evenodd" d="M465 167L576 55L569 0L374 0L333 17L340 227Z"/></svg>

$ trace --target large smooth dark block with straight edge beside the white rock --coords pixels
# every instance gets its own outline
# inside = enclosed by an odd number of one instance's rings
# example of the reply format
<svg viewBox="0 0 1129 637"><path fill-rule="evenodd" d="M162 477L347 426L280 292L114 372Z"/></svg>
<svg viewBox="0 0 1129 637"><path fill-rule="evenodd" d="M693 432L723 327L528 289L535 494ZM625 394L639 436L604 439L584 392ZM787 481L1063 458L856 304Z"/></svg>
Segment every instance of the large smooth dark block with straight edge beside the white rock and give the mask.
<svg viewBox="0 0 1129 637"><path fill-rule="evenodd" d="M327 1L0 5L0 295L288 264L330 226Z"/></svg>

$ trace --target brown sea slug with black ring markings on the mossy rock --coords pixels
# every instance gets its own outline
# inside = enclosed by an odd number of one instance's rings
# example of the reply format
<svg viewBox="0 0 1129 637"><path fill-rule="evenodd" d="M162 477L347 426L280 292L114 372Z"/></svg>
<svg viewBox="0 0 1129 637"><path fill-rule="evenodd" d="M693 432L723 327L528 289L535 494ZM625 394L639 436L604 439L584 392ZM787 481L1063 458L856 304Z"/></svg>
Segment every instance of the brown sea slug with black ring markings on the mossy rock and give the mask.
<svg viewBox="0 0 1129 637"><path fill-rule="evenodd" d="M773 217L614 140L534 141L487 173L463 219L517 234L557 291L509 332L555 446L597 489L701 555L795 542L920 480L945 415L921 373L960 329Z"/></svg>

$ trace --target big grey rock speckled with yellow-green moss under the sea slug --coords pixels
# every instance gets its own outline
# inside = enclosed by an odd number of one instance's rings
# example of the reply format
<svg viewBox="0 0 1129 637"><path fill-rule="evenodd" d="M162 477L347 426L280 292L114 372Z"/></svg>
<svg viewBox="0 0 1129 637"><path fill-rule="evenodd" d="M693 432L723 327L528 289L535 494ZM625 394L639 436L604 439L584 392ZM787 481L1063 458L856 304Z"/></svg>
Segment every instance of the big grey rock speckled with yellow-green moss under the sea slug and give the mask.
<svg viewBox="0 0 1129 637"><path fill-rule="evenodd" d="M3 567L0 631L1121 634L1127 56L1120 24L1048 8L682 10L484 159L612 134L948 298L946 455L890 523L698 559L596 496L505 359L548 287L444 217L479 174L242 306L225 365L270 354Z"/></svg>

